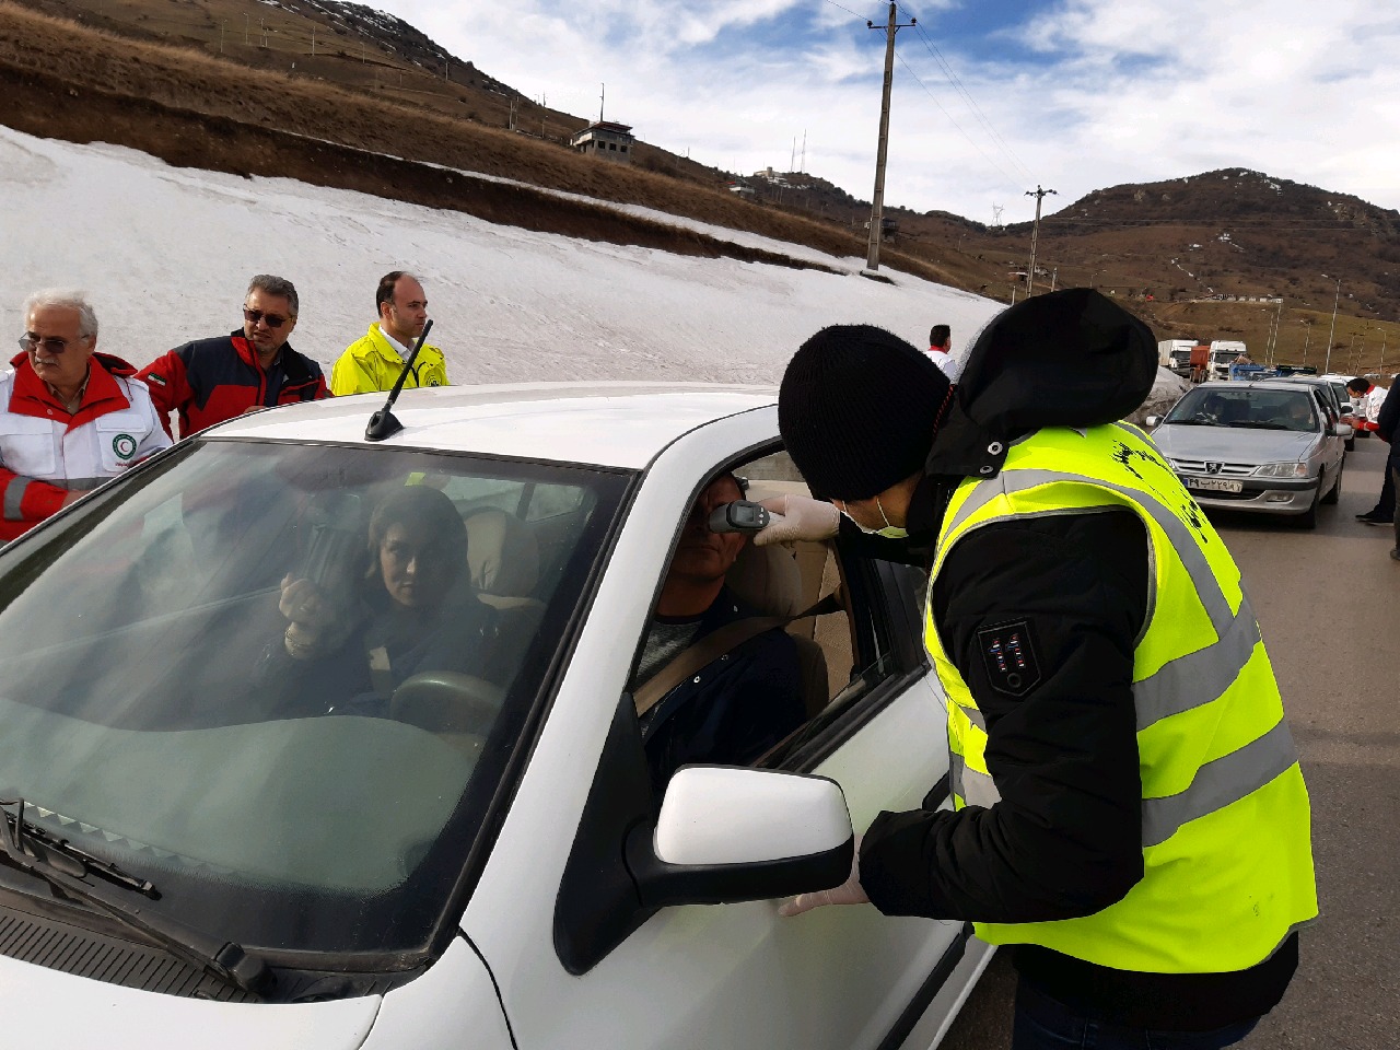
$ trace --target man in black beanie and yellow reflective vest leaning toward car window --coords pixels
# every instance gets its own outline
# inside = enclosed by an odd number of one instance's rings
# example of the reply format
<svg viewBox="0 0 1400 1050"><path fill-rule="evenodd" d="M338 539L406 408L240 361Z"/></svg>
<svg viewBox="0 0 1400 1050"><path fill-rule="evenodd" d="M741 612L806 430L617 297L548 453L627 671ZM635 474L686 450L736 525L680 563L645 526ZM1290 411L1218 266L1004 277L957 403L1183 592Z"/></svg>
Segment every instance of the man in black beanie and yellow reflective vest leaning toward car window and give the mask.
<svg viewBox="0 0 1400 1050"><path fill-rule="evenodd" d="M756 542L930 568L948 739L928 745L953 804L881 813L848 882L781 910L868 900L1014 945L1014 1050L1238 1043L1317 914L1308 790L1239 568L1119 421L1155 372L1152 332L1072 288L994 319L956 386L857 325L812 336L778 393L820 500L766 501L783 517Z"/></svg>

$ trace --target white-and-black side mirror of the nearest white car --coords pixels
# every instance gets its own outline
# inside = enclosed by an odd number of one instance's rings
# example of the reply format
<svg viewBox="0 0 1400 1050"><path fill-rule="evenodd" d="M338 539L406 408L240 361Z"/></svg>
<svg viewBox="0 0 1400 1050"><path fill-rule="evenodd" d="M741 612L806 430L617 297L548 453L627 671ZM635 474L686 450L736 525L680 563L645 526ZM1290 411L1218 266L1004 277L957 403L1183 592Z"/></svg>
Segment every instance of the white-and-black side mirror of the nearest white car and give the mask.
<svg viewBox="0 0 1400 1050"><path fill-rule="evenodd" d="M732 904L841 885L855 836L834 780L687 766L671 778L655 825L634 827L626 850L645 907Z"/></svg>

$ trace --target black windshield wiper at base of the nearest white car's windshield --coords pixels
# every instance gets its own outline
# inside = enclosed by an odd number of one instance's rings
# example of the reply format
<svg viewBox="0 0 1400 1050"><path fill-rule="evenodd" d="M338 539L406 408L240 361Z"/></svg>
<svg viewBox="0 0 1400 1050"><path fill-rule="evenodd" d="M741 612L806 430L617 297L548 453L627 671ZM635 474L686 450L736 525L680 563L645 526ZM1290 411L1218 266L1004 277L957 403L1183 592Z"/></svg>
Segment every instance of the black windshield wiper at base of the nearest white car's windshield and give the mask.
<svg viewBox="0 0 1400 1050"><path fill-rule="evenodd" d="M18 806L11 813L4 806ZM130 875L115 864L108 864L77 848L64 839L24 819L22 798L0 799L0 853L17 867L48 882L64 896L84 900L122 925L168 948L192 966L214 974L227 984L260 995L273 974L260 956L252 955L234 941L220 941L199 930L161 914L147 914L122 900L108 897L106 890L85 879L95 875L123 889L158 900L160 893L148 881Z"/></svg>

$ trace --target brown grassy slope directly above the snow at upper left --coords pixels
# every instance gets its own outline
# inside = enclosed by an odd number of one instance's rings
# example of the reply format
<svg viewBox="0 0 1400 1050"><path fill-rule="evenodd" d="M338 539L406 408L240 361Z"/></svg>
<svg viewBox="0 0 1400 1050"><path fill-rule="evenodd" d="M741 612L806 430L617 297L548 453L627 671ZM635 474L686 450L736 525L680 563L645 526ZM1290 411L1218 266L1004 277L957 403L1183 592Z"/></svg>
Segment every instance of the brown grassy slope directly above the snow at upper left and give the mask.
<svg viewBox="0 0 1400 1050"><path fill-rule="evenodd" d="M461 176L454 182L451 174L423 162L643 204L837 255L864 253L862 239L848 230L755 206L722 188L601 164L549 140L300 73L248 69L169 43L133 43L10 3L0 3L0 120L31 134L130 146L176 165L286 175L497 223L683 253L764 258L717 238L529 189L476 179L463 185ZM889 262L946 280L917 259Z"/></svg>

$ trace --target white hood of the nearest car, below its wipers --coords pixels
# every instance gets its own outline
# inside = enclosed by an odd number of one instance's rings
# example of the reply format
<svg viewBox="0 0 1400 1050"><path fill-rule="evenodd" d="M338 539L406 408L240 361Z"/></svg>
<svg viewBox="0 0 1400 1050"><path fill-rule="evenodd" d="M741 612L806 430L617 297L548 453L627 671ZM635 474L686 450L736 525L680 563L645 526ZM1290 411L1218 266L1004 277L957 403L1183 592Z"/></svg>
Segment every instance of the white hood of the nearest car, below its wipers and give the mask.
<svg viewBox="0 0 1400 1050"><path fill-rule="evenodd" d="M213 1002L105 984L0 956L11 1012L48 1046L104 1050L356 1050L381 997L295 1005Z"/></svg>

